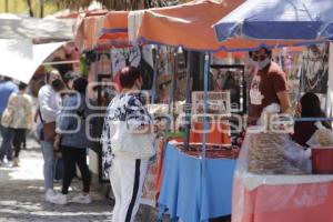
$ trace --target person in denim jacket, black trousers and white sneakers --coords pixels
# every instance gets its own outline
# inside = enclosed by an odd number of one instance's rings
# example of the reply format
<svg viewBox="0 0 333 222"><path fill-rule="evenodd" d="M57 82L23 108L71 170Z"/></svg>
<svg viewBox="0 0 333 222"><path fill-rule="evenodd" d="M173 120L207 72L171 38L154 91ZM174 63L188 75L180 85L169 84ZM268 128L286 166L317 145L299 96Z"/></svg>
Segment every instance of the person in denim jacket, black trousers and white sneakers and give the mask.
<svg viewBox="0 0 333 222"><path fill-rule="evenodd" d="M56 204L67 204L68 189L75 174L75 164L79 165L81 171L83 189L82 193L73 198L71 202L91 202L89 195L91 175L87 164L88 139L85 133L85 121L89 113L85 104L87 85L88 81L84 78L74 80L73 90L75 93L64 98L63 108L57 123L59 137L56 139L54 148L58 151L61 151L63 155L64 179L61 193L51 200L51 202Z"/></svg>

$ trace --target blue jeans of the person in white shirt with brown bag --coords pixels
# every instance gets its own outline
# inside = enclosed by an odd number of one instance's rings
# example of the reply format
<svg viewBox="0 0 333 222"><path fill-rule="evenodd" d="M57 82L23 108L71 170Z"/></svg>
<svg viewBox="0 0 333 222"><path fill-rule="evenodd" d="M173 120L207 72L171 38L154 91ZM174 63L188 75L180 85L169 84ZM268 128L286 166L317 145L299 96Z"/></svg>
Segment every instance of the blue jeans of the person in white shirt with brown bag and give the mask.
<svg viewBox="0 0 333 222"><path fill-rule="evenodd" d="M41 150L44 159L43 174L44 174L44 189L53 189L54 176L54 151L53 142L41 141Z"/></svg>

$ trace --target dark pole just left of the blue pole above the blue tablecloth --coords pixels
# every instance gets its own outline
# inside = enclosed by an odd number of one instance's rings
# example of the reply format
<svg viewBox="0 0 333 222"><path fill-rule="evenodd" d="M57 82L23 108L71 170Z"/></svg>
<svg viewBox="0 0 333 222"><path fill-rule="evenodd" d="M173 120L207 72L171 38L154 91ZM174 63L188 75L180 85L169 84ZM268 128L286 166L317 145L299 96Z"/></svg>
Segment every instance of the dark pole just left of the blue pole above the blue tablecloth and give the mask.
<svg viewBox="0 0 333 222"><path fill-rule="evenodd" d="M185 150L189 150L189 143L190 143L190 128L191 128L191 91L192 91L192 84L191 84L191 51L186 52L186 100L185 100L185 139L184 139L184 148Z"/></svg>

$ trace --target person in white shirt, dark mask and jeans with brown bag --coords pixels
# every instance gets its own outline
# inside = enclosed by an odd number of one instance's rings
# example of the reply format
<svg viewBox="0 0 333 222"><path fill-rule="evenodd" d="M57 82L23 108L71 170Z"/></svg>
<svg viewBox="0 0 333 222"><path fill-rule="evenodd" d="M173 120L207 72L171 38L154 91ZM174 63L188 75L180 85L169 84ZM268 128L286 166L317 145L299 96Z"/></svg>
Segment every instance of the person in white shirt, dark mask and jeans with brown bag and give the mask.
<svg viewBox="0 0 333 222"><path fill-rule="evenodd" d="M39 118L43 124L56 122L57 117L60 114L61 97L59 91L61 91L64 87L61 75L57 70L52 70L50 73L47 73L46 80L47 84L43 85L38 92ZM46 141L43 137L43 130L40 131L40 140L44 160L43 175L46 200L51 202L50 200L57 195L57 193L53 191L54 141Z"/></svg>

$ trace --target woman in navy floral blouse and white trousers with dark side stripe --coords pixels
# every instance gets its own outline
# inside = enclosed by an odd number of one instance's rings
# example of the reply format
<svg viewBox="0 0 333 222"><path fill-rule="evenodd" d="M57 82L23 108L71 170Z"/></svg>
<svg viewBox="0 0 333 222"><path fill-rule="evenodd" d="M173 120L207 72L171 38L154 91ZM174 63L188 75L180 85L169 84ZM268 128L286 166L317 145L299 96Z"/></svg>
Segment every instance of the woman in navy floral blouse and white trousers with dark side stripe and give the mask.
<svg viewBox="0 0 333 222"><path fill-rule="evenodd" d="M140 71L125 67L119 79L122 91L110 102L103 127L103 165L107 171L110 169L115 198L112 221L132 222L139 210L148 162L154 155L154 150L145 153L153 149L153 137L149 137L153 125L139 92L143 84ZM138 142L144 138L152 140Z"/></svg>

